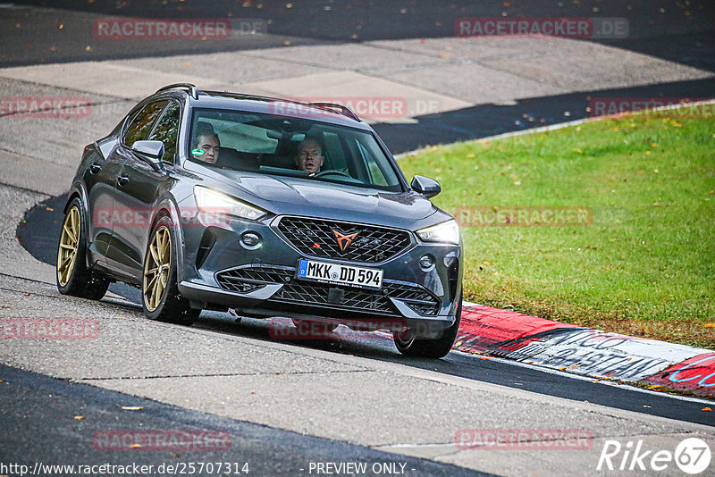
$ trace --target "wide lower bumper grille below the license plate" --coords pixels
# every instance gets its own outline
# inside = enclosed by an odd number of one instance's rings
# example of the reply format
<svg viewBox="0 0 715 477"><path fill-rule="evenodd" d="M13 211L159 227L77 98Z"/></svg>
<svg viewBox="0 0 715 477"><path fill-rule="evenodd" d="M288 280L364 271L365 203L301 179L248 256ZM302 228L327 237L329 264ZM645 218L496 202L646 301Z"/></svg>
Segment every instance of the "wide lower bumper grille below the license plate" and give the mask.
<svg viewBox="0 0 715 477"><path fill-rule="evenodd" d="M396 316L399 313L390 301L392 297L404 301L417 314L433 316L440 310L440 301L417 285L383 280L383 289L380 290L354 289L296 280L294 276L293 268L263 266L219 272L216 274L216 280L223 289L232 291L243 291L240 289L242 286L260 287L269 283L282 283L283 287L268 299L271 302L337 307L350 311ZM336 289L341 290L340 300L335 299Z"/></svg>

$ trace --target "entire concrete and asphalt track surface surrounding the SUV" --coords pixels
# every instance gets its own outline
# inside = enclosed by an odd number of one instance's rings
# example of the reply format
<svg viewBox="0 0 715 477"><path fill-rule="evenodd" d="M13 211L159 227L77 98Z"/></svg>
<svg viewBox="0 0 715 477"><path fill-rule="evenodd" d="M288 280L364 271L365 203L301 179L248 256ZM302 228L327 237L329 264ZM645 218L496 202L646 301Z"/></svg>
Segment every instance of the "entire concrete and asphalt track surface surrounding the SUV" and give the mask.
<svg viewBox="0 0 715 477"><path fill-rule="evenodd" d="M627 18L628 38L598 42L715 71L715 7L705 1L262 4L70 0L21 4L65 10L0 5L6 13L0 15L2 67L121 58L156 58L159 63L172 54L449 38L457 18L507 13ZM103 42L88 33L88 25L98 14L261 19L269 35L221 42ZM603 64L604 74L608 69ZM12 96L37 95L36 90L46 87L19 80L4 81L3 88L4 95ZM704 97L713 90L715 79L708 77L640 81L632 87L601 88L598 94ZM393 152L404 152L425 144L556 124L567 120L566 111L572 112L568 120L579 119L585 117L592 94L587 88L534 94L515 102L485 103L374 127ZM90 121L101 122L105 132L116 119ZM607 439L624 443L642 439L653 448L670 448L698 433L713 442L712 414L702 412L707 403L700 400L455 352L438 361L407 359L379 334L281 342L268 336L265 322L235 322L227 314L205 313L191 328L147 322L131 302L136 290L116 285L114 296L98 304L60 297L52 269L46 265L55 256L63 204L63 187L55 182L71 173L84 144L74 143L74 131L91 128L81 121L72 125L15 121L0 123L0 127L4 124L13 134L8 138L0 130L4 138L0 200L7 206L0 214L0 255L4 257L0 316L93 319L102 332L99 339L86 343L0 344L4 402L0 464L169 464L220 459L248 462L253 475L300 475L311 462L356 461L406 464L406 475L480 474L469 469L501 475L593 474ZM25 174L29 179L20 180ZM26 209L25 222L16 230ZM39 262L23 255L16 233L22 247ZM460 450L454 446L455 432L465 428L557 427L592 431L593 448L564 458L562 452L550 450ZM226 431L231 435L231 448L202 453L107 452L92 446L97 431L117 430ZM1 466L0 474L4 474Z"/></svg>

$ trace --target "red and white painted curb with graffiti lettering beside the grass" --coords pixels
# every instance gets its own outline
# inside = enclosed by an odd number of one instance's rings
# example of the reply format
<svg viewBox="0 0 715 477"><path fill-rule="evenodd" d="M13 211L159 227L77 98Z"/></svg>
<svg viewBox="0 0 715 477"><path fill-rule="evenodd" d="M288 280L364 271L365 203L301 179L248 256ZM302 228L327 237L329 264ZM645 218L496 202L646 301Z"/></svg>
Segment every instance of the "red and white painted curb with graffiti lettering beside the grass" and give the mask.
<svg viewBox="0 0 715 477"><path fill-rule="evenodd" d="M609 333L465 302L454 348L595 379L715 397L715 351Z"/></svg>

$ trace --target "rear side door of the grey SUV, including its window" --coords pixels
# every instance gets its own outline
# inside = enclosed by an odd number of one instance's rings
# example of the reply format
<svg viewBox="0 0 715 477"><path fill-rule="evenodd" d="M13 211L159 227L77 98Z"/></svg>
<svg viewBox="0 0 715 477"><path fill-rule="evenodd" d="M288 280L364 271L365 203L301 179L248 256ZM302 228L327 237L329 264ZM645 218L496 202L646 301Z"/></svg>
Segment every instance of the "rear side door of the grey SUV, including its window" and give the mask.
<svg viewBox="0 0 715 477"><path fill-rule="evenodd" d="M109 247L106 252L106 267L113 272L121 275L124 278L133 279L133 273L130 273L130 267L127 266L127 251L119 238L117 231L140 226L140 220L143 211L133 208L129 204L125 204L122 200L123 193L120 190L123 187L122 171L125 164L133 160L136 155L131 151L131 146L139 140L144 140L149 137L153 130L156 121L158 120L164 108L169 103L168 100L159 100L147 104L131 120L129 127L124 131L120 144L114 149L114 161L119 164L119 168L115 171L112 189L113 197L113 221L112 221L112 237L109 241Z"/></svg>

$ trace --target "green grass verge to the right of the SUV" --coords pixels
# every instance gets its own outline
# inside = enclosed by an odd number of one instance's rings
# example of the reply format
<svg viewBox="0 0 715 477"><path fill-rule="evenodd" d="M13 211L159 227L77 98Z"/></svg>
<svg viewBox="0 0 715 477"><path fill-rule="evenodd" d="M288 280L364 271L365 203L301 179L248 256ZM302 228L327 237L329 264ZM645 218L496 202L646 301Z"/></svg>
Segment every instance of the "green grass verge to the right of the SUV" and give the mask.
<svg viewBox="0 0 715 477"><path fill-rule="evenodd" d="M715 116L631 115L434 146L400 166L439 180L433 201L450 213L593 213L580 227L462 227L466 299L715 348Z"/></svg>

